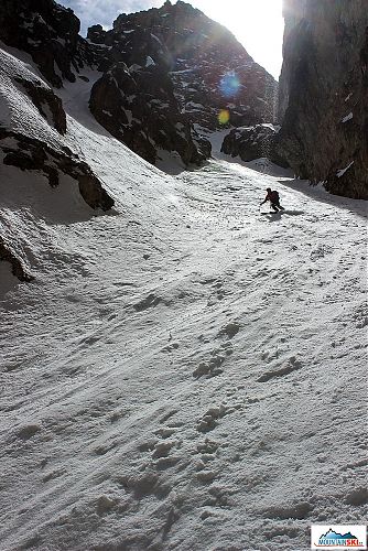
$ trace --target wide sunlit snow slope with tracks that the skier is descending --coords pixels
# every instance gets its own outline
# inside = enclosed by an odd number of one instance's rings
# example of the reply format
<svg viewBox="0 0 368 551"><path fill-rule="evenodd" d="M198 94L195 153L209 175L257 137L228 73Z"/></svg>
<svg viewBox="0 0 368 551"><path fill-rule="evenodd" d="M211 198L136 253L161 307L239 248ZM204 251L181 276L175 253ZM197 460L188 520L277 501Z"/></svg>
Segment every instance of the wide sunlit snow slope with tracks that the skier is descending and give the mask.
<svg viewBox="0 0 368 551"><path fill-rule="evenodd" d="M164 174L73 86L66 144L116 206L0 166L35 276L0 263L1 551L295 551L364 522L364 202L220 158Z"/></svg>

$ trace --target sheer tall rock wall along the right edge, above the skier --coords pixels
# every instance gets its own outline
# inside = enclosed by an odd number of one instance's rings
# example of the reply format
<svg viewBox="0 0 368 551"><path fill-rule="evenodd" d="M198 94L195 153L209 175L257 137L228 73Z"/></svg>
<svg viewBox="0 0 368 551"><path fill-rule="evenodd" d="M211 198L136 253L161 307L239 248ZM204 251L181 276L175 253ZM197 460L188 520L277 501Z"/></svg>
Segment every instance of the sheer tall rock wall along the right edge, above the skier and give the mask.
<svg viewBox="0 0 368 551"><path fill-rule="evenodd" d="M284 0L280 152L296 176L368 198L366 0Z"/></svg>

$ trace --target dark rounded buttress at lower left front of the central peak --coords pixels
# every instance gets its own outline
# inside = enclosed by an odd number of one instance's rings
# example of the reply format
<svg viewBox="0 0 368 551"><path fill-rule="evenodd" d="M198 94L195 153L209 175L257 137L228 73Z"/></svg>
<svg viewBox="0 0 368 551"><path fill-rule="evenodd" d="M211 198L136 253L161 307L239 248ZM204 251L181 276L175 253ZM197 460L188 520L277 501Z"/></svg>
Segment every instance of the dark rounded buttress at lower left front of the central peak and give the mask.
<svg viewBox="0 0 368 551"><path fill-rule="evenodd" d="M123 62L95 84L89 107L95 118L136 153L152 164L160 149L176 151L185 164L201 162L188 120L178 111L173 84L160 66Z"/></svg>

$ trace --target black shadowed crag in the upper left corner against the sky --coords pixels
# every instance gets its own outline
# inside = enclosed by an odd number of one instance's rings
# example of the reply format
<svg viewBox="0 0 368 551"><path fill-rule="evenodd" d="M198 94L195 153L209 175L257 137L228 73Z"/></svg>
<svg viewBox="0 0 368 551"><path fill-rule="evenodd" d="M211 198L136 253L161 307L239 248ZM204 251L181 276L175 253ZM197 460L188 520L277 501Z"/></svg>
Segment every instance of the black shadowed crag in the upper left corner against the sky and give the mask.
<svg viewBox="0 0 368 551"><path fill-rule="evenodd" d="M31 54L44 77L56 87L75 82L93 52L79 35L79 20L54 0L1 0L0 40Z"/></svg>

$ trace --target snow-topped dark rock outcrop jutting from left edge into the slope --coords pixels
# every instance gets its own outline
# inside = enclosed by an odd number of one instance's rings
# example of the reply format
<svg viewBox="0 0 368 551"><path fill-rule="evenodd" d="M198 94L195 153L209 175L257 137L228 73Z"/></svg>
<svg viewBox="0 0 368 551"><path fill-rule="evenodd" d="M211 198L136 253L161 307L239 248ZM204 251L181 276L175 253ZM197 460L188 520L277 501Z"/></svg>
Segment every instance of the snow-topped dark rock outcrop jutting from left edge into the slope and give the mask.
<svg viewBox="0 0 368 551"><path fill-rule="evenodd" d="M113 201L87 163L66 147L66 115L61 99L24 64L0 50L0 152L2 162L40 171L55 187L59 174L78 182L80 195L91 208L108 210Z"/></svg>

